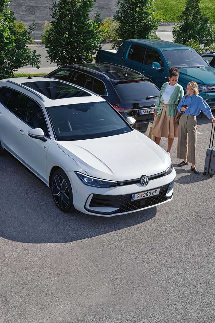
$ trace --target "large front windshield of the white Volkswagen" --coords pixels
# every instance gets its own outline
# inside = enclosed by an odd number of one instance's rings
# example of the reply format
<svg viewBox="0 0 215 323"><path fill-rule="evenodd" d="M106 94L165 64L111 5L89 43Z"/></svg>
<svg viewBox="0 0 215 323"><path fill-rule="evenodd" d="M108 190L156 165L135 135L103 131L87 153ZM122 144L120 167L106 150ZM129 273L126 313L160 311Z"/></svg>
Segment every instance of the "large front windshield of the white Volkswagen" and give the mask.
<svg viewBox="0 0 215 323"><path fill-rule="evenodd" d="M85 140L132 131L107 102L92 102L46 108L57 140Z"/></svg>

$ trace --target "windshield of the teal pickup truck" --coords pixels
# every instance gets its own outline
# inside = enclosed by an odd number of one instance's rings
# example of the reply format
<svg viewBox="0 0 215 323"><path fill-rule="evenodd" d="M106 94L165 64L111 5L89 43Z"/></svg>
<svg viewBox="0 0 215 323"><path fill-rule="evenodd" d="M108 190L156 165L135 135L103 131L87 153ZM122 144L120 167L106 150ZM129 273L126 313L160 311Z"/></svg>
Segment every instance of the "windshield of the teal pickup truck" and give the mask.
<svg viewBox="0 0 215 323"><path fill-rule="evenodd" d="M205 60L194 49L164 50L163 55L165 56L170 67L208 67Z"/></svg>

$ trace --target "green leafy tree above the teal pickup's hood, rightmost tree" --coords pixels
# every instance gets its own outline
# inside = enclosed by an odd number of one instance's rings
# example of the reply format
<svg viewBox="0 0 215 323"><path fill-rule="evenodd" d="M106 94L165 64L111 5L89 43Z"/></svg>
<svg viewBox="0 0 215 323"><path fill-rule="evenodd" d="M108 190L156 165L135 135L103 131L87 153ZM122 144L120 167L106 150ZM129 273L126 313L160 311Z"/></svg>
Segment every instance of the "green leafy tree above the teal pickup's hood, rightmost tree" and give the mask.
<svg viewBox="0 0 215 323"><path fill-rule="evenodd" d="M175 43L185 45L193 42L207 50L215 42L215 33L213 26L208 25L209 19L200 11L200 1L186 0L184 11L179 16L181 25L175 25L172 34Z"/></svg>

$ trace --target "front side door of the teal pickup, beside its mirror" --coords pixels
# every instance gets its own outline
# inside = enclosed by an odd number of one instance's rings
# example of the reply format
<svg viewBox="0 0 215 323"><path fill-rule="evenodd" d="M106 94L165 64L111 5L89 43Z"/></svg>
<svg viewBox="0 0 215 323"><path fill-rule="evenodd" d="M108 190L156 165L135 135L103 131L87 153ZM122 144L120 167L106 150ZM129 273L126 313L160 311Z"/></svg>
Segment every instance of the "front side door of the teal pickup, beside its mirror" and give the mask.
<svg viewBox="0 0 215 323"><path fill-rule="evenodd" d="M161 55L158 51L146 47L145 55L143 57L143 63L141 64L140 72L147 78L150 78L159 89L164 82L168 81L165 75L165 65ZM154 69L151 67L153 62L157 62L161 65L160 69Z"/></svg>

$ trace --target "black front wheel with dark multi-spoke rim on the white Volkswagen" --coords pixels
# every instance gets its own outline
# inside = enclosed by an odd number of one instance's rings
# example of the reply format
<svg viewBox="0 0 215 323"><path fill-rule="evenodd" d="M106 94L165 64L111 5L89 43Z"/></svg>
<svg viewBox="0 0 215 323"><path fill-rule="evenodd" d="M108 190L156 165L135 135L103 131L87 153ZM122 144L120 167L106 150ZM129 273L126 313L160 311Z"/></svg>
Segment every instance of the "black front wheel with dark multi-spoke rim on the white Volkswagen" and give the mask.
<svg viewBox="0 0 215 323"><path fill-rule="evenodd" d="M56 170L51 179L51 191L54 203L63 212L74 210L72 186L62 169Z"/></svg>

